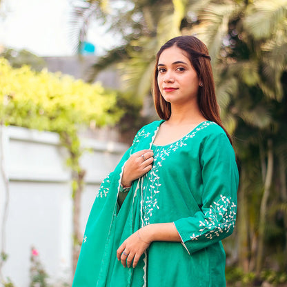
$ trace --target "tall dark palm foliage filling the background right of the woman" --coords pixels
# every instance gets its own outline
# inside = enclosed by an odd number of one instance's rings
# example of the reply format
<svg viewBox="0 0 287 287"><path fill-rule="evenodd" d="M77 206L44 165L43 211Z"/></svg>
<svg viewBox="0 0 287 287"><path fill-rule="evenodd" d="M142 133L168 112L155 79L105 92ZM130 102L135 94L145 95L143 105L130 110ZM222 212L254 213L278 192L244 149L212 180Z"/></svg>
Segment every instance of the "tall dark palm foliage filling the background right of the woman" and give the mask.
<svg viewBox="0 0 287 287"><path fill-rule="evenodd" d="M224 7L229 11L223 12ZM243 254L241 264L246 271L256 269L257 276L262 266L286 270L287 220L264 212L273 206L273 214L281 215L278 203L287 203L287 161L286 157L280 161L284 152L277 152L287 141L283 81L287 67L286 1L210 0L192 11L197 13L199 23L189 31L208 44L221 116L235 137L241 171L239 219L244 217L238 227L239 242L244 242L244 246L237 247ZM221 36L219 28L224 31ZM273 166L268 155L269 141L274 145ZM267 181L268 170L273 168L272 181ZM270 188L266 188L267 182ZM266 190L272 191L264 201ZM262 244L264 249L258 247Z"/></svg>

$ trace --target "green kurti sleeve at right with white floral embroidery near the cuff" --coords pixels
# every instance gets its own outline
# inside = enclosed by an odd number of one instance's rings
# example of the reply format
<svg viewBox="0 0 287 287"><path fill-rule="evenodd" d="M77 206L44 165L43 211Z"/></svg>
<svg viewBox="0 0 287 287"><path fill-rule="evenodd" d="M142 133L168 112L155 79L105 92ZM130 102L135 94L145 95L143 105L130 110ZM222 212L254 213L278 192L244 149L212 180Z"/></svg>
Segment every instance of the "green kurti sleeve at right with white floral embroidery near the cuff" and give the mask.
<svg viewBox="0 0 287 287"><path fill-rule="evenodd" d="M237 212L238 169L225 133L208 135L201 142L199 162L202 206L190 217L174 222L190 254L231 235Z"/></svg>

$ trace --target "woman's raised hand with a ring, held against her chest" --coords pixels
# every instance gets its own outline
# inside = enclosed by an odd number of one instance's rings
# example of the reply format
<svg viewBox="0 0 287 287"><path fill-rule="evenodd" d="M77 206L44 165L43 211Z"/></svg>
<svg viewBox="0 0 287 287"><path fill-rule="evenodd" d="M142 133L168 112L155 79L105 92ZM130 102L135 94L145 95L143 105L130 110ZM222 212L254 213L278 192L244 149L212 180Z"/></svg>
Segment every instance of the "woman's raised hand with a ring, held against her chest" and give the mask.
<svg viewBox="0 0 287 287"><path fill-rule="evenodd" d="M142 157L143 155L143 157ZM153 162L152 150L139 150L130 156L123 168L123 177L121 184L123 186L131 186L132 181L142 177L146 172L150 171Z"/></svg>

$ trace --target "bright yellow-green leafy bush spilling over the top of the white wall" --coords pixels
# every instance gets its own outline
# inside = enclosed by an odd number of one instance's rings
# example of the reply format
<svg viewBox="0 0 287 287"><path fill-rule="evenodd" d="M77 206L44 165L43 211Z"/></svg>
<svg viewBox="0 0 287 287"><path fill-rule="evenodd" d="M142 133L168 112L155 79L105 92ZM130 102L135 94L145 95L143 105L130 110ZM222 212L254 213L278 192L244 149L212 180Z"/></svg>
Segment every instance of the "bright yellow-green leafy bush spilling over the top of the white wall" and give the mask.
<svg viewBox="0 0 287 287"><path fill-rule="evenodd" d="M115 92L107 93L99 83L28 66L12 68L5 59L0 59L0 75L0 116L6 125L73 134L80 124L93 120L103 126L121 116ZM71 143L72 150L77 144Z"/></svg>

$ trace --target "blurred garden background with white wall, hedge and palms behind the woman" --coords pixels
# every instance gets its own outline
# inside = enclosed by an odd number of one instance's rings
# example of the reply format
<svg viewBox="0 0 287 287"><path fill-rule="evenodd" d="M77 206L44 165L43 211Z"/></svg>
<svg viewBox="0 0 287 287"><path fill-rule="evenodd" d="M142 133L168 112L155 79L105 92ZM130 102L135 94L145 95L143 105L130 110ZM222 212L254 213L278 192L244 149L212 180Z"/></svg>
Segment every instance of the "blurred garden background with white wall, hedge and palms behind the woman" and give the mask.
<svg viewBox="0 0 287 287"><path fill-rule="evenodd" d="M286 0L1 0L0 282L70 286L92 201L154 119L155 54L210 52L239 166L228 286L287 286Z"/></svg>

